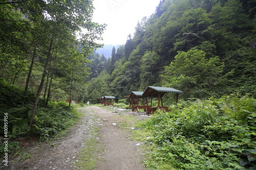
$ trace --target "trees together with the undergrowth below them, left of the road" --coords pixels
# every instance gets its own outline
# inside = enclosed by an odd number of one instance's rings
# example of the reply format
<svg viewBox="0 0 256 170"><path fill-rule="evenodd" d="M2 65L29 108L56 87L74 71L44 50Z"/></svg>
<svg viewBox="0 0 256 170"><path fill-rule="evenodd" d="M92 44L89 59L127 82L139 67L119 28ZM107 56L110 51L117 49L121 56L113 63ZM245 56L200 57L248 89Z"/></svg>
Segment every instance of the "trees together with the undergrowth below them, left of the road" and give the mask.
<svg viewBox="0 0 256 170"><path fill-rule="evenodd" d="M74 124L77 113L61 101L84 98L87 56L105 29L93 10L86 0L0 2L1 136L4 113L11 140L49 139Z"/></svg>

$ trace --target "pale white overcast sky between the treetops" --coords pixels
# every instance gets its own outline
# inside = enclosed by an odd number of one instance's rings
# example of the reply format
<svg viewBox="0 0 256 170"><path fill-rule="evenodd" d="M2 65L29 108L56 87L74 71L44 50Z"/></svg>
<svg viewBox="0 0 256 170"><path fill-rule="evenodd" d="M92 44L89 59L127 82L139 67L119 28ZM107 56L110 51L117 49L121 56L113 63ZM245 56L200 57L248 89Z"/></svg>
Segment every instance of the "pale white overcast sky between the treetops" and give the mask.
<svg viewBox="0 0 256 170"><path fill-rule="evenodd" d="M93 21L108 26L102 37L104 44L125 44L133 35L138 21L150 16L160 0L94 0Z"/></svg>

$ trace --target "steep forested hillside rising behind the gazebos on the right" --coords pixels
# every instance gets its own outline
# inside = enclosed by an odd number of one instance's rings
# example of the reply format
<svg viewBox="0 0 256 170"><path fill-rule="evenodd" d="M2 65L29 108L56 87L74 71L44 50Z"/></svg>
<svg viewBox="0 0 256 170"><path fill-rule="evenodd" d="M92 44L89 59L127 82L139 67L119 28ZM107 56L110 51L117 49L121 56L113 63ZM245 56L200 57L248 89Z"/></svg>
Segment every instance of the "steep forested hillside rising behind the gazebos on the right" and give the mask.
<svg viewBox="0 0 256 170"><path fill-rule="evenodd" d="M160 1L90 81L88 99L123 99L148 85L182 90L183 99L255 97L255 11L253 0Z"/></svg>

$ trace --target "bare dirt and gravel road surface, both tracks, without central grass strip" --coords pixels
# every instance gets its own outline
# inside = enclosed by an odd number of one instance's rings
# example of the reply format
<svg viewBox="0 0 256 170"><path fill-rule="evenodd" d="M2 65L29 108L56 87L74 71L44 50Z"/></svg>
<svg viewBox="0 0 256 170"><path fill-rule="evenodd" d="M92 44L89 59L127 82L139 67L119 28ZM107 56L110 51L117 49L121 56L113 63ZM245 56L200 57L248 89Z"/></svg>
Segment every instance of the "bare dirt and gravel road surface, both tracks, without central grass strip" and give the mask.
<svg viewBox="0 0 256 170"><path fill-rule="evenodd" d="M65 138L55 140L52 143L36 143L33 140L20 138L26 152L22 155L31 155L30 158L20 159L19 155L9 157L8 167L0 165L0 169L81 169L79 162L80 151L86 147L86 140L92 136L95 127L99 128L97 141L103 148L101 161L96 163L99 170L139 170L146 169L143 166L141 142L131 140L131 128L120 128L124 124L125 116L135 116L144 119L143 116L134 115L133 112L119 110L106 110L96 106L78 108L83 116L72 127Z"/></svg>

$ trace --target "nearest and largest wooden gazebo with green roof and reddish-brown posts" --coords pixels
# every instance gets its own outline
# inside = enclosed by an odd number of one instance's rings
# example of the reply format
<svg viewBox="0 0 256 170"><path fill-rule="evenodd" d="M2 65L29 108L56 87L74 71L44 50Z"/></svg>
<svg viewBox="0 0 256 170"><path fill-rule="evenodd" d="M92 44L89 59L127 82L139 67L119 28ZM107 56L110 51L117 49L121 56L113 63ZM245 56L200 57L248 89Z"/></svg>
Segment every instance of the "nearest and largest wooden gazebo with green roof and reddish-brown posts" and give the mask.
<svg viewBox="0 0 256 170"><path fill-rule="evenodd" d="M170 88L170 87L155 87L155 86L148 86L146 88L146 90L143 92L142 96L145 97L146 99L146 105L148 105L148 98L151 98L151 105L149 107L147 107L147 114L149 112L153 112L157 109L157 108L162 108L165 110L168 110L168 107L164 107L163 106L163 101L162 101L162 96L165 93L176 93L176 104L179 101L179 93L183 93L183 91L174 89L174 88ZM152 98L158 98L158 107L157 108L152 108ZM161 106L160 106L160 102L161 102Z"/></svg>

